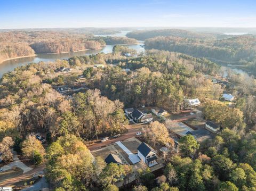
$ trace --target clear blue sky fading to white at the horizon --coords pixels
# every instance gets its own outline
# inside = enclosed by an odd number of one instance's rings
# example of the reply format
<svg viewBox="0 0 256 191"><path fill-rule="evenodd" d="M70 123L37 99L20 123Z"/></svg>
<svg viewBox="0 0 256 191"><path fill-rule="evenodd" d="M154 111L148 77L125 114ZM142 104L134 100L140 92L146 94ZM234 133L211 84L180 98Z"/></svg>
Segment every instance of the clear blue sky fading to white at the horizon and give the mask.
<svg viewBox="0 0 256 191"><path fill-rule="evenodd" d="M256 27L255 0L0 0L0 29Z"/></svg>

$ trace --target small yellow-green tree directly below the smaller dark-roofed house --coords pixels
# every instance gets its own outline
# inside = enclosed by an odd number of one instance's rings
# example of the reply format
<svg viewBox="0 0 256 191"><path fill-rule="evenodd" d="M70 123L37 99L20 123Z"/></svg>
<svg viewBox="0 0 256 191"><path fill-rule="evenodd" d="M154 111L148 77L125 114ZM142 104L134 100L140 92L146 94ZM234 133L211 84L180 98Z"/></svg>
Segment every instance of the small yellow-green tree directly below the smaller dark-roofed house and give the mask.
<svg viewBox="0 0 256 191"><path fill-rule="evenodd" d="M114 184L124 175L123 165L116 163L109 163L100 174L100 181L102 185Z"/></svg>

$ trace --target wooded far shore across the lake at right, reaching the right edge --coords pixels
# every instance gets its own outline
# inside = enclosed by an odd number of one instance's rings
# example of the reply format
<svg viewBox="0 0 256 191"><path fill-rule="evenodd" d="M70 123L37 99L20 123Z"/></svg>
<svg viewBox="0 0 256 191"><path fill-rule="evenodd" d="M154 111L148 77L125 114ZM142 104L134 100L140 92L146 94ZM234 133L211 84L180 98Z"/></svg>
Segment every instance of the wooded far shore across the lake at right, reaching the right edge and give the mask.
<svg viewBox="0 0 256 191"><path fill-rule="evenodd" d="M162 49L226 63L255 62L256 38L243 35L221 40L199 40L179 37L155 37L145 41L147 49Z"/></svg>

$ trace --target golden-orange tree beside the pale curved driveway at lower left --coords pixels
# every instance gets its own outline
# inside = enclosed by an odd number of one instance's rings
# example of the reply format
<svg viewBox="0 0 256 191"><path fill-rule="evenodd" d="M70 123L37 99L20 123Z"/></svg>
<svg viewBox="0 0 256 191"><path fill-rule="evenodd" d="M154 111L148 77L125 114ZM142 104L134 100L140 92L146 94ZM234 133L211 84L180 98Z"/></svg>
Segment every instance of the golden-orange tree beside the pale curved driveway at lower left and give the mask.
<svg viewBox="0 0 256 191"><path fill-rule="evenodd" d="M41 154L44 156L45 150L40 140L37 140L35 136L29 135L22 143L21 149L23 155L28 157L35 163L35 154Z"/></svg>

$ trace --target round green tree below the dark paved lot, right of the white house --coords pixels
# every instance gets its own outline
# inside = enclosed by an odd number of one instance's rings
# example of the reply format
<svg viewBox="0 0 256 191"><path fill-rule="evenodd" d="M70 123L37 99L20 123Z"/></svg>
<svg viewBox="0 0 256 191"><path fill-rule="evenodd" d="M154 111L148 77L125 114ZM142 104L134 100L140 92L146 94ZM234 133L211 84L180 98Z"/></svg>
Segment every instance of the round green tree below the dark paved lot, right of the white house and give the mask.
<svg viewBox="0 0 256 191"><path fill-rule="evenodd" d="M179 148L185 156L191 156L195 154L196 150L199 148L199 144L197 143L195 137L192 135L181 137L179 143Z"/></svg>

